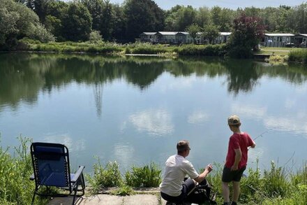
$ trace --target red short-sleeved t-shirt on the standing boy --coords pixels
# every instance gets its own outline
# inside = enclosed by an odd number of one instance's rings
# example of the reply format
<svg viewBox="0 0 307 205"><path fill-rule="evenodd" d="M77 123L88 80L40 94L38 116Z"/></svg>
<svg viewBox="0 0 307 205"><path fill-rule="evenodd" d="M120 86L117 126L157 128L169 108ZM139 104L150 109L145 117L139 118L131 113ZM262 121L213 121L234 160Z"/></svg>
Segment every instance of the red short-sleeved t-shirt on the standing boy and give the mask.
<svg viewBox="0 0 307 205"><path fill-rule="evenodd" d="M247 133L241 132L241 133L232 134L232 136L230 136L230 140L228 143L228 152L227 152L225 167L227 168L232 167L236 156L234 150L239 148L241 149L242 157L241 161L239 162L238 169L246 167L247 158L248 158L247 154L248 147L252 145L253 145L253 140L250 138L250 136Z"/></svg>

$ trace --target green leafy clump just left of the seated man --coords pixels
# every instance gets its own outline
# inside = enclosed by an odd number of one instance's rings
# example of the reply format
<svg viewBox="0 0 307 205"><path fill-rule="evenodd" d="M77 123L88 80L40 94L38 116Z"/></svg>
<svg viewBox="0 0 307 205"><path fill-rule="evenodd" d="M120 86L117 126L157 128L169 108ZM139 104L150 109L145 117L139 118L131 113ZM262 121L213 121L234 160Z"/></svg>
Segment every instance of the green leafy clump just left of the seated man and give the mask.
<svg viewBox="0 0 307 205"><path fill-rule="evenodd" d="M144 167L133 166L125 174L126 184L132 187L158 187L161 182L161 169L153 162Z"/></svg>

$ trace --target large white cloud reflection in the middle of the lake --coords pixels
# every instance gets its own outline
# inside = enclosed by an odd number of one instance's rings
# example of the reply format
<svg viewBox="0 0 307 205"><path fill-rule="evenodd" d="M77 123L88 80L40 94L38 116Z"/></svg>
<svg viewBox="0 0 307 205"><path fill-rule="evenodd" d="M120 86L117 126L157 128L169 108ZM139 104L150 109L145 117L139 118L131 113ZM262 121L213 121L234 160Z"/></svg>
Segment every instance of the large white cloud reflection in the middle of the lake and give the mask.
<svg viewBox="0 0 307 205"><path fill-rule="evenodd" d="M150 109L130 115L130 122L140 132L163 136L174 132L170 113L163 109Z"/></svg>

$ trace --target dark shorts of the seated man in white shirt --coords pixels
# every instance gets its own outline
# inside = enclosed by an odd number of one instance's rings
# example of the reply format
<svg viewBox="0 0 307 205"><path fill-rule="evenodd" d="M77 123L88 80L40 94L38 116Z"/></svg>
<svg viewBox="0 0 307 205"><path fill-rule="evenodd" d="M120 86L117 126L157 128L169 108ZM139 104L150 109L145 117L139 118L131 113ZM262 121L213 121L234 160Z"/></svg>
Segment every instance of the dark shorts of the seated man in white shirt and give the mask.
<svg viewBox="0 0 307 205"><path fill-rule="evenodd" d="M181 190L181 195L178 197L172 197L170 195L167 195L163 192L161 192L161 197L165 199L167 202L172 202L172 203L180 203L184 202L186 197L192 192L195 188L195 183L193 179L188 178L184 183L182 184L182 190Z"/></svg>

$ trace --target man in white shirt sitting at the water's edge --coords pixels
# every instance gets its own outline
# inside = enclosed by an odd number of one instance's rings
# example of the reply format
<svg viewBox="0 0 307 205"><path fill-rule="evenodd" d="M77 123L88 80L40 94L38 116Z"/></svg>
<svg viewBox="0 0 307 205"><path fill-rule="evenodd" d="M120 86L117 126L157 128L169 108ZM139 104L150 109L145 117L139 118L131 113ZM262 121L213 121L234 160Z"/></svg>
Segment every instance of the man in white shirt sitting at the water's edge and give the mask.
<svg viewBox="0 0 307 205"><path fill-rule="evenodd" d="M165 173L160 184L161 197L167 202L182 203L194 190L197 183L204 181L213 167L208 164L202 174L197 174L192 163L186 160L190 153L189 142L177 143L177 155L170 156L165 162ZM190 176L186 181L186 175Z"/></svg>

